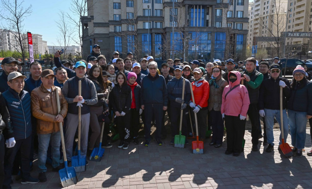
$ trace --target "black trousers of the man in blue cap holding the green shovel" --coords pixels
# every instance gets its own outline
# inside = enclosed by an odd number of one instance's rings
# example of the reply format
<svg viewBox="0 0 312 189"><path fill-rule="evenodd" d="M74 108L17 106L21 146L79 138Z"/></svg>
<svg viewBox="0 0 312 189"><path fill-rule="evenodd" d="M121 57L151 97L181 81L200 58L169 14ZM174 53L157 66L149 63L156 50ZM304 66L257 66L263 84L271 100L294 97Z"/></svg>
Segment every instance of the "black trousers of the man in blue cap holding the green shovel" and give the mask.
<svg viewBox="0 0 312 189"><path fill-rule="evenodd" d="M180 116L181 116L181 107L170 107L170 126L171 126L171 135L174 137L179 134L180 129ZM188 136L188 108L183 110L182 116L182 135Z"/></svg>

